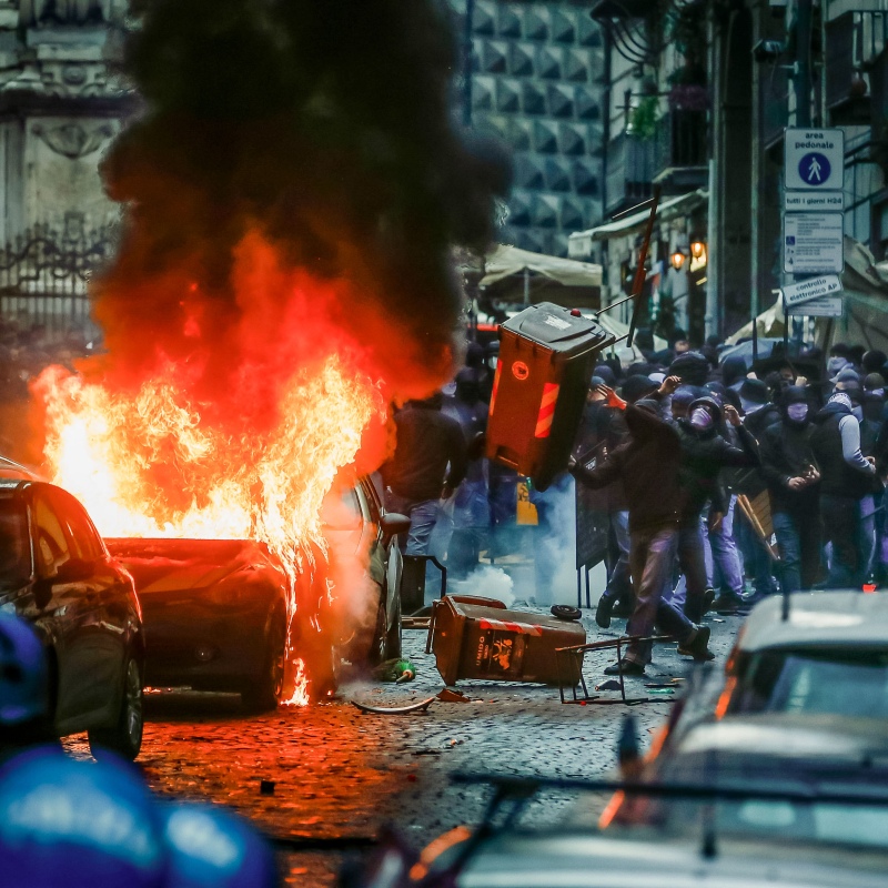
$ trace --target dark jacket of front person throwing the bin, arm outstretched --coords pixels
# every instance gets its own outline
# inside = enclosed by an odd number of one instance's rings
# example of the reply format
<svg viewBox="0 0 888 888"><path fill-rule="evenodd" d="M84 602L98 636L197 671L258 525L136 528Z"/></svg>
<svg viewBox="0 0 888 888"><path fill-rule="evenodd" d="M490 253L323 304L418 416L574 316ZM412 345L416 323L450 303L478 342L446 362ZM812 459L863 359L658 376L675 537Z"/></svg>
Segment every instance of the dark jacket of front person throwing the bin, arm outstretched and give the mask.
<svg viewBox="0 0 888 888"><path fill-rule="evenodd" d="M595 468L577 464L572 474L595 490L622 481L630 532L675 527L680 494L678 434L653 411L637 405L626 408L626 426L630 437L625 444L610 451Z"/></svg>

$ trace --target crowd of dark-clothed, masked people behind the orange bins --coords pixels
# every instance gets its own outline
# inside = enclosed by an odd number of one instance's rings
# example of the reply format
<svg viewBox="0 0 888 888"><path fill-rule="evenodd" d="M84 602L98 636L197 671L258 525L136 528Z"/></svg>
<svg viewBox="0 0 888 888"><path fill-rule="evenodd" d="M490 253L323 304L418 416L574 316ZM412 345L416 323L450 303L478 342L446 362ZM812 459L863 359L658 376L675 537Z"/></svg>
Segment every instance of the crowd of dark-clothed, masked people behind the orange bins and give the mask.
<svg viewBox="0 0 888 888"><path fill-rule="evenodd" d="M643 360L624 350L595 367L572 457L579 483L604 488L599 626L632 617L630 634L656 625L707 658L712 608L888 579L882 352L777 347L754 362L714 339L692 349L680 332L666 350L645 331L637 344ZM515 526L519 478L483 457L493 366L495 351L471 343L450 390L396 414L383 470L389 507L413 519L406 554L434 555L456 576L483 549L508 551ZM544 538L546 498L537 505ZM643 672L649 655L638 646L615 668Z"/></svg>

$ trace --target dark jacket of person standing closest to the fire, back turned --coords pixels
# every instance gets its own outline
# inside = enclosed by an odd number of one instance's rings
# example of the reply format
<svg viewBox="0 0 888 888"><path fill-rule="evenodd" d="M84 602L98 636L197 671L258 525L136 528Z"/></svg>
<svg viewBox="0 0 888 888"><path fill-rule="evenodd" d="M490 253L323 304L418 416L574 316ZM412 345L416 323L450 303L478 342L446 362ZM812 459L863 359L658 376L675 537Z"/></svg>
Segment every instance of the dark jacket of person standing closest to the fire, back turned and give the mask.
<svg viewBox="0 0 888 888"><path fill-rule="evenodd" d="M437 500L445 481L450 487L458 486L467 461L465 437L456 420L424 402L410 402L395 414L395 453L382 470L393 493L422 502Z"/></svg>

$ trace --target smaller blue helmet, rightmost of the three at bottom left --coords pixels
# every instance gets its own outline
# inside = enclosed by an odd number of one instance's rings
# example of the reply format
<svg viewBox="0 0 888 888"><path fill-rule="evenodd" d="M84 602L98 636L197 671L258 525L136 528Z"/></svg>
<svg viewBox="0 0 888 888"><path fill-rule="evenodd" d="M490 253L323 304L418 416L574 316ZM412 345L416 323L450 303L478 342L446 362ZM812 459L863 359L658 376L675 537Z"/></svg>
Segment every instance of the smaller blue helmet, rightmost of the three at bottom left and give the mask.
<svg viewBox="0 0 888 888"><path fill-rule="evenodd" d="M243 818L212 805L167 807L170 856L164 888L274 888L269 844Z"/></svg>

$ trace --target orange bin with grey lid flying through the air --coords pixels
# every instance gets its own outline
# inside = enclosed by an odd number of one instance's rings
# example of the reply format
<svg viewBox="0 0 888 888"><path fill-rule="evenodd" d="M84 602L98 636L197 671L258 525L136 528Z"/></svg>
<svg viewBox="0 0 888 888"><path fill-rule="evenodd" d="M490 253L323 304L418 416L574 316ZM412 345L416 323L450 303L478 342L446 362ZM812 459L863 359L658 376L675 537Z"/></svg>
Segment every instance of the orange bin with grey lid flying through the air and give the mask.
<svg viewBox="0 0 888 888"><path fill-rule="evenodd" d="M545 491L574 443L592 369L613 336L577 309L532 305L500 327L487 457Z"/></svg>

